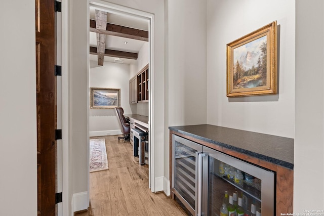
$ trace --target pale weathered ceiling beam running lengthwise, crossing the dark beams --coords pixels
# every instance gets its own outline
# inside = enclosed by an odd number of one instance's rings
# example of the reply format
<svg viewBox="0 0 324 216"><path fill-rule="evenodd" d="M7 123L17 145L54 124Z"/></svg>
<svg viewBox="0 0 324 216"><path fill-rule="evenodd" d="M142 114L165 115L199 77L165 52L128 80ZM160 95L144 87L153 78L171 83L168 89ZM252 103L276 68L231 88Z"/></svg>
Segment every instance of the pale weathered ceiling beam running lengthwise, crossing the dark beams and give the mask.
<svg viewBox="0 0 324 216"><path fill-rule="evenodd" d="M96 10L96 29L106 29L107 12ZM106 47L106 34L97 33L98 65L103 65L103 54Z"/></svg>

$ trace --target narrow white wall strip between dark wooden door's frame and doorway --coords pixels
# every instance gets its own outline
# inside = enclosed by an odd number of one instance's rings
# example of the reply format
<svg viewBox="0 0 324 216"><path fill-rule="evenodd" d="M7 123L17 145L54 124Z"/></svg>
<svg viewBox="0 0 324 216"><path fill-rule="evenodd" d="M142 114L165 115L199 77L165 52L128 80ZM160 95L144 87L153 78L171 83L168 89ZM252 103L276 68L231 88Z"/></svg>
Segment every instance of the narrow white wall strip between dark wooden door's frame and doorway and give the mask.
<svg viewBox="0 0 324 216"><path fill-rule="evenodd" d="M70 1L69 20L69 147L71 163L72 211L86 209L75 202L88 199L89 185L89 22L88 1ZM63 133L63 132L62 132ZM63 189L64 190L64 189ZM80 198L79 194L85 195ZM75 196L74 196L75 195ZM87 203L87 201L82 201ZM88 200L89 203L89 200ZM89 204L88 204L89 205ZM75 209L78 206L80 209Z"/></svg>

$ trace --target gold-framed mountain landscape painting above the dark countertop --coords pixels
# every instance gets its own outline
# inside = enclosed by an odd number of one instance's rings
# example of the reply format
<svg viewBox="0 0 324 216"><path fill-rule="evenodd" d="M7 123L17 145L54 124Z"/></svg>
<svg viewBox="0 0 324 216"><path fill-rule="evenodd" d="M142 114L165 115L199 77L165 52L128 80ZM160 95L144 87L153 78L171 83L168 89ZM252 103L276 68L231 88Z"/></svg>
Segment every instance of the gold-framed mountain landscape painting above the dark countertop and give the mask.
<svg viewBox="0 0 324 216"><path fill-rule="evenodd" d="M277 93L276 21L226 46L227 97Z"/></svg>

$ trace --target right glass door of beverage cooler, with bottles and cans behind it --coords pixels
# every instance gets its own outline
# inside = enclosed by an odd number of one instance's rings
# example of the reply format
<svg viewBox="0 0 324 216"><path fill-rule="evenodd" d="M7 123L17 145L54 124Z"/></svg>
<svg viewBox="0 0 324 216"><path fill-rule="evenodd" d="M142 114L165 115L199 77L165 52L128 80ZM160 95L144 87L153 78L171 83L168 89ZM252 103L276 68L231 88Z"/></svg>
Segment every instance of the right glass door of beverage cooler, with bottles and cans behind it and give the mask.
<svg viewBox="0 0 324 216"><path fill-rule="evenodd" d="M198 160L203 164L198 215L274 215L273 171L208 147Z"/></svg>

